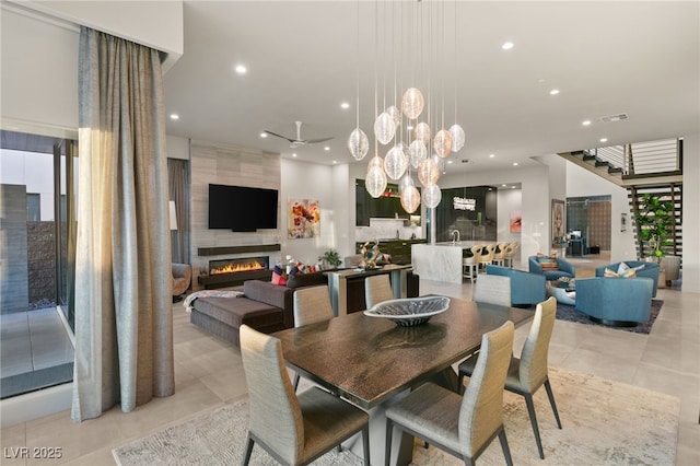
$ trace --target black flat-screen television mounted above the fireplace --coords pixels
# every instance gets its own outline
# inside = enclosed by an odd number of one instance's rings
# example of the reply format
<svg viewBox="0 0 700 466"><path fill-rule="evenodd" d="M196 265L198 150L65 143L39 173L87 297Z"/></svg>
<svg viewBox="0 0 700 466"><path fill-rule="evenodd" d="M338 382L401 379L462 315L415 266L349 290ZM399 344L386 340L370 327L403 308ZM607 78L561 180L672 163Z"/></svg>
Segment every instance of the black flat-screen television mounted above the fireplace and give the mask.
<svg viewBox="0 0 700 466"><path fill-rule="evenodd" d="M210 230L277 229L277 189L209 185Z"/></svg>

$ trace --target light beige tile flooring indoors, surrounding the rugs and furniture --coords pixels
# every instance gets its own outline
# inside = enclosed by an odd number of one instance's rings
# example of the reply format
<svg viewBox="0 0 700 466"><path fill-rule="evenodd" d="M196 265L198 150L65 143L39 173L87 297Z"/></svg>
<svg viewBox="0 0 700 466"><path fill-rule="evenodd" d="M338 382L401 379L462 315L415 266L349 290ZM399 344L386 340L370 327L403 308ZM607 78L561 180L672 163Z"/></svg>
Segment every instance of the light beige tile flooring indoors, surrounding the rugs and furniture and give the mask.
<svg viewBox="0 0 700 466"><path fill-rule="evenodd" d="M571 259L576 275L590 275L606 258ZM517 267L517 265L516 265ZM471 284L421 280L421 293L470 299ZM700 464L700 294L660 289L664 300L650 335L557 321L550 363L677 396L681 400L676 464ZM71 465L114 464L112 448L246 395L240 352L189 324L182 303L173 306L176 393L131 413L113 408L101 418L73 423L69 411L2 430L2 448L58 446ZM527 326L516 331L522 347ZM555 387L556 391L556 387ZM565 419L562 419L565 429ZM547 440L544 439L546 443ZM2 465L48 464L11 461Z"/></svg>

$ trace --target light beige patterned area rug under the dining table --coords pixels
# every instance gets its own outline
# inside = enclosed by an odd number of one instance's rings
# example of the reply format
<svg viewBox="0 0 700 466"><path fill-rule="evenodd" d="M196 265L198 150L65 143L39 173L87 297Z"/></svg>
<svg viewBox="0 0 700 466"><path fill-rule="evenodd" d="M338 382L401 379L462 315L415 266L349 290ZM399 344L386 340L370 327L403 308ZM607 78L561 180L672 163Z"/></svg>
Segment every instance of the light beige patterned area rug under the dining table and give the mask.
<svg viewBox="0 0 700 466"><path fill-rule="evenodd" d="M562 368L550 368L550 381L563 429L558 429L544 389L535 394L535 409L545 448L537 445L522 397L504 394L504 423L518 465L673 465L678 436L680 400L676 397ZM241 464L248 424L247 401L200 415L114 450L118 465ZM253 465L277 463L260 447ZM335 450L318 465L361 465L352 453ZM413 465L459 465L462 462L416 442ZM479 465L503 465L498 440L479 457Z"/></svg>

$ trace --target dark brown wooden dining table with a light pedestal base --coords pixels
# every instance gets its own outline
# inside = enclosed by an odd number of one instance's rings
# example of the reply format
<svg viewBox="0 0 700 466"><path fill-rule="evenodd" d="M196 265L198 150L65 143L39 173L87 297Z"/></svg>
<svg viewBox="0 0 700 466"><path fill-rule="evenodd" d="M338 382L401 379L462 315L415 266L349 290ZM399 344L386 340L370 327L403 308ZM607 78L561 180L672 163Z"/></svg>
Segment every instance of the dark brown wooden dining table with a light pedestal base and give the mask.
<svg viewBox="0 0 700 466"><path fill-rule="evenodd" d="M453 364L478 351L483 334L506 321L517 327L533 316L534 310L450 298L445 312L417 326L358 312L273 336L291 370L370 412L372 464L384 464L388 406L429 381L456 391ZM413 439L394 440L392 464L409 464ZM362 456L361 440L345 445Z"/></svg>

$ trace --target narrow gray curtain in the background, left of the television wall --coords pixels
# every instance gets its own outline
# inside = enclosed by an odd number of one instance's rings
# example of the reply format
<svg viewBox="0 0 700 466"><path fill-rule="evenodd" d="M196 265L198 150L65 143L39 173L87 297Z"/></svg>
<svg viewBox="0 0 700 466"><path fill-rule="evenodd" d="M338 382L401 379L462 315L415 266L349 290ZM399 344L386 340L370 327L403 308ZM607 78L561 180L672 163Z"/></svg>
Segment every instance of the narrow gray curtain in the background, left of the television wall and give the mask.
<svg viewBox="0 0 700 466"><path fill-rule="evenodd" d="M171 200L175 201L177 230L172 232L173 261L190 264L189 259L189 161L167 160Z"/></svg>

